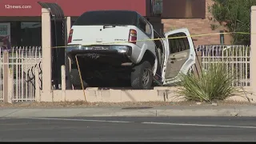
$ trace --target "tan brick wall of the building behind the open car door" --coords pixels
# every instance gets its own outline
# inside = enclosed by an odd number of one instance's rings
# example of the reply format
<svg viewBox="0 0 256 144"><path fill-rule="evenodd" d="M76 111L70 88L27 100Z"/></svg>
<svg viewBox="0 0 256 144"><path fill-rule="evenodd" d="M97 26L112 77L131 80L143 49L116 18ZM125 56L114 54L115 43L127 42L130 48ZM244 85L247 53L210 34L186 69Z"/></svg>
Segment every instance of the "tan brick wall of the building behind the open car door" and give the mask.
<svg viewBox="0 0 256 144"><path fill-rule="evenodd" d="M170 0L171 1L171 0ZM191 35L198 34L214 34L220 33L222 30L225 32L226 29L223 26L218 26L218 22L213 22L213 17L210 14L209 6L212 6L214 2L212 0L206 0L205 2L205 16L204 18L169 18L162 19L164 24L164 31L174 30L181 27L186 27L190 30ZM213 25L218 28L213 30ZM219 34L195 37L195 45L219 45L221 44L221 38ZM224 44L230 45L232 37L230 34L224 35Z"/></svg>

